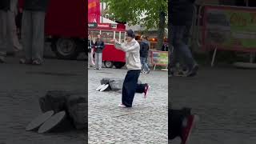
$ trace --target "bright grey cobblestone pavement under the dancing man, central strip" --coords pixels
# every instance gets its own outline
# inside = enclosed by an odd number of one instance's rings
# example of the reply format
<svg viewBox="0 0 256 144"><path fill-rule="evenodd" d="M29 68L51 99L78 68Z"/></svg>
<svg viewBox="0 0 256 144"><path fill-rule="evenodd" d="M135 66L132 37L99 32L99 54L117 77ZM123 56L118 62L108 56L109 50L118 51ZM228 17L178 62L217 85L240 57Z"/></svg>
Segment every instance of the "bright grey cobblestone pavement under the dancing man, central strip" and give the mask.
<svg viewBox="0 0 256 144"><path fill-rule="evenodd" d="M147 144L167 142L168 78L163 71L141 75L151 86L146 100L142 94L134 97L133 108L119 108L122 94L98 92L102 78L125 78L126 70L89 70L89 144Z"/></svg>

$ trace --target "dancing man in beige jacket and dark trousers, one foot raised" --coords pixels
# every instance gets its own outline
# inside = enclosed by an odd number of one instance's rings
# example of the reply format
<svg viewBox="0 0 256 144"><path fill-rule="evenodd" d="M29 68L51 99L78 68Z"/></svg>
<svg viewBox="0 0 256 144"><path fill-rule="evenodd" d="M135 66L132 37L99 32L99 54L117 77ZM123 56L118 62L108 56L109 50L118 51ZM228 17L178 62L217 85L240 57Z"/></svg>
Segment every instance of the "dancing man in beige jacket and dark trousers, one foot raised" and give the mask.
<svg viewBox="0 0 256 144"><path fill-rule="evenodd" d="M144 98L146 98L150 90L150 85L147 83L138 84L138 77L142 69L139 54L140 46L134 39L133 30L127 30L126 33L126 42L121 43L116 39L112 40L116 49L126 52L128 72L122 86L122 103L118 105L120 107L132 107L135 93L144 93Z"/></svg>

